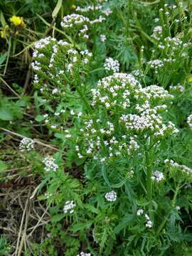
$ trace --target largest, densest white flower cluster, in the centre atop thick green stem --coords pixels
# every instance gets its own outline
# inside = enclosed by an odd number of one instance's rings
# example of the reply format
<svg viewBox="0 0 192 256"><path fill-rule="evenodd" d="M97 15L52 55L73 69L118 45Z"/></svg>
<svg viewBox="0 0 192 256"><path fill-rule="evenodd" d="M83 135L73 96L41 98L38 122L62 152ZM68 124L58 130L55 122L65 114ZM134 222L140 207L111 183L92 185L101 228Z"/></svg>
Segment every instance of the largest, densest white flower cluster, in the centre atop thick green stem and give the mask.
<svg viewBox="0 0 192 256"><path fill-rule="evenodd" d="M91 91L95 117L87 117L84 122L85 129L80 131L85 138L84 146L76 147L80 158L89 155L103 163L118 159L122 155L139 155L138 140L141 134L154 134L157 142L178 132L172 122L164 123L161 116L161 112L166 112L167 106L156 105L158 100L164 102L173 98L162 87L151 85L142 88L133 75L114 73L98 81L97 89ZM102 118L101 108L105 110ZM117 109L121 113L118 116ZM127 132L129 137L125 135ZM101 153L103 147L107 153L105 157Z"/></svg>

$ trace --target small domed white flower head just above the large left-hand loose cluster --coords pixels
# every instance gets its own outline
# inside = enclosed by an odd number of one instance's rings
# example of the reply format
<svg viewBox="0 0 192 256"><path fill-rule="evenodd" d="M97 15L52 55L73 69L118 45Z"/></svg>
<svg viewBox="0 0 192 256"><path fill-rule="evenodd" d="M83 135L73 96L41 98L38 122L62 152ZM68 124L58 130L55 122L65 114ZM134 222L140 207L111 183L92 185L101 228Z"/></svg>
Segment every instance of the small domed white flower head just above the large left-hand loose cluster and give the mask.
<svg viewBox="0 0 192 256"><path fill-rule="evenodd" d="M79 15L79 14L69 14L63 18L60 23L63 28L72 28L75 25L82 25L89 22L89 18Z"/></svg>

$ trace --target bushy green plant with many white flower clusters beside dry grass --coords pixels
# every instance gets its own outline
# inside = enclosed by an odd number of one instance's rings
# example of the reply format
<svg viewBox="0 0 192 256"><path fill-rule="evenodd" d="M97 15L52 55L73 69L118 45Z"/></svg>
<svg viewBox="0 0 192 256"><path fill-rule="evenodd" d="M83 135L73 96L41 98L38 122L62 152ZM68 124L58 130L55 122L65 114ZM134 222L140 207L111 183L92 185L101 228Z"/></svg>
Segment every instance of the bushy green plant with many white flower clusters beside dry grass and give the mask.
<svg viewBox="0 0 192 256"><path fill-rule="evenodd" d="M77 3L31 64L36 122L58 149L40 168L50 240L67 256L188 253L191 4Z"/></svg>

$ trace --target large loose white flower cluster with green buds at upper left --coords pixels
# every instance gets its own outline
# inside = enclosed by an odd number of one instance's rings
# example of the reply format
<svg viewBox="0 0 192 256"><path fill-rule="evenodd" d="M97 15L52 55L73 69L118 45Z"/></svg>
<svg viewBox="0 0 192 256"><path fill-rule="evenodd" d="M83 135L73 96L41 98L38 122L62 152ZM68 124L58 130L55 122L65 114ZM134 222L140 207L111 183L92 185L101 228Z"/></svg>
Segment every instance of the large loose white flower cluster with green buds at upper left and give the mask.
<svg viewBox="0 0 192 256"><path fill-rule="evenodd" d="M42 54L44 57L39 58ZM66 90L63 82L67 82L67 76L76 69L84 69L90 62L92 53L88 50L79 53L68 42L48 37L35 43L33 56L34 61L31 66L36 71L33 82L46 97L48 95L62 97ZM54 88L45 83L46 79L54 81Z"/></svg>

